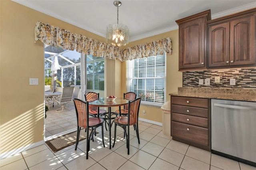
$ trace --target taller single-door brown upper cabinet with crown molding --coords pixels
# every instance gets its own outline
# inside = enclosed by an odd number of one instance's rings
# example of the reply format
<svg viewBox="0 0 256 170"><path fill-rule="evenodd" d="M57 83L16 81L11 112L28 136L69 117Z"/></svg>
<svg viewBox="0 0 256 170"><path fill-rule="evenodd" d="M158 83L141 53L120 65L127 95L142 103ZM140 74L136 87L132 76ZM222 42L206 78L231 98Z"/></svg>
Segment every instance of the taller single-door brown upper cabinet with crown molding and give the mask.
<svg viewBox="0 0 256 170"><path fill-rule="evenodd" d="M206 69L206 22L210 10L176 20L179 25L179 71Z"/></svg>

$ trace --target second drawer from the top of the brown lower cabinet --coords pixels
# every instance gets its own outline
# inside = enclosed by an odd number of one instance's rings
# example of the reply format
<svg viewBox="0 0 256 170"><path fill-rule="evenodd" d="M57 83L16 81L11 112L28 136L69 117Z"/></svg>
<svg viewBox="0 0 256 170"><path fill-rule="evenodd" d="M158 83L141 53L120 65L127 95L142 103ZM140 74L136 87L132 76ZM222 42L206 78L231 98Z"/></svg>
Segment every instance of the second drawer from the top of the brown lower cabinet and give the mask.
<svg viewBox="0 0 256 170"><path fill-rule="evenodd" d="M190 107L182 105L171 105L172 113L182 113L186 115L199 116L208 118L209 110L199 107Z"/></svg>

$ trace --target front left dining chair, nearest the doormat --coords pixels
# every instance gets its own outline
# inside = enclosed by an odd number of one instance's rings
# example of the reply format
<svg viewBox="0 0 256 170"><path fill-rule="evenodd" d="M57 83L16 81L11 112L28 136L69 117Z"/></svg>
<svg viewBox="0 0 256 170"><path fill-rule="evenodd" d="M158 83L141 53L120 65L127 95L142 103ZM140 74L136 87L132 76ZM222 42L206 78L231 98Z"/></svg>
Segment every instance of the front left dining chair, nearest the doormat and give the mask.
<svg viewBox="0 0 256 170"><path fill-rule="evenodd" d="M73 99L74 105L76 108L76 118L77 118L77 136L76 136L76 147L79 142L79 135L81 128L86 128L86 159L88 159L88 152L90 150L90 138L96 133L96 128L101 126L101 135L102 135L102 143L104 144L104 133L103 133L103 123L104 120L99 117L91 117L89 118L89 104L88 102L84 102L80 99ZM89 128L92 128L92 131L89 135ZM93 141L93 138L92 138Z"/></svg>

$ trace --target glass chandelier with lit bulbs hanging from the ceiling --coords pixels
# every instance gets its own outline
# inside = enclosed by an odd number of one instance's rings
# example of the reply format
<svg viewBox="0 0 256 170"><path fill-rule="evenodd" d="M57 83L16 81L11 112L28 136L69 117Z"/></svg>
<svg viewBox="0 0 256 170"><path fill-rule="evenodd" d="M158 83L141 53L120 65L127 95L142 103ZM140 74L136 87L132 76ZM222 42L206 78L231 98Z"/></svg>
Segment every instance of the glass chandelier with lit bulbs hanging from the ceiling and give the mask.
<svg viewBox="0 0 256 170"><path fill-rule="evenodd" d="M129 43L128 27L124 24L118 24L118 7L121 5L120 1L114 1L114 6L117 7L117 24L110 24L106 29L107 43L118 47Z"/></svg>

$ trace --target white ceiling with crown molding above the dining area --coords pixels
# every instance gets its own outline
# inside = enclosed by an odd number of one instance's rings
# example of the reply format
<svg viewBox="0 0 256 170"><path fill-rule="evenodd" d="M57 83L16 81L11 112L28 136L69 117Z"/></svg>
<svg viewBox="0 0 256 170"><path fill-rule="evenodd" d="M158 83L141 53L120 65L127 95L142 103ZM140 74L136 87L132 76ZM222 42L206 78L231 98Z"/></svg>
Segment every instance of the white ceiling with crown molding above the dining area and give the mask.
<svg viewBox="0 0 256 170"><path fill-rule="evenodd" d="M117 22L114 0L13 0L19 4L105 37ZM256 0L120 0L119 24L130 42L178 29L175 20L210 9L212 19L256 7ZM36 24L36 23L35 23ZM51 24L53 23L45 23ZM65 28L64 28L65 29Z"/></svg>

